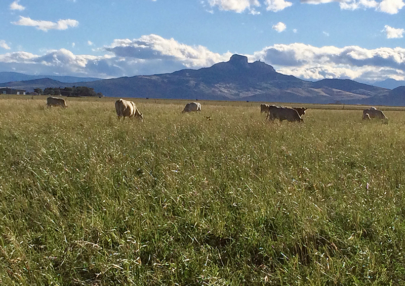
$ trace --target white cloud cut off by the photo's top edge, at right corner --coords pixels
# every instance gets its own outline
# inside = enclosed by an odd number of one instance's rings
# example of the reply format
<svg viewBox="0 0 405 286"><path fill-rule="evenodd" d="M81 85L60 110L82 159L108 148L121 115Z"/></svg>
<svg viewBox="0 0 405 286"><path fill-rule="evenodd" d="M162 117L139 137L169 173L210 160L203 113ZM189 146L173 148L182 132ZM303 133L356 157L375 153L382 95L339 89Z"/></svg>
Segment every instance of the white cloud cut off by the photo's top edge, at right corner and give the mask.
<svg viewBox="0 0 405 286"><path fill-rule="evenodd" d="M342 10L374 8L376 11L388 14L397 14L405 6L403 0L382 0L380 2L375 0L301 0L301 3L315 5L331 2L339 2Z"/></svg>

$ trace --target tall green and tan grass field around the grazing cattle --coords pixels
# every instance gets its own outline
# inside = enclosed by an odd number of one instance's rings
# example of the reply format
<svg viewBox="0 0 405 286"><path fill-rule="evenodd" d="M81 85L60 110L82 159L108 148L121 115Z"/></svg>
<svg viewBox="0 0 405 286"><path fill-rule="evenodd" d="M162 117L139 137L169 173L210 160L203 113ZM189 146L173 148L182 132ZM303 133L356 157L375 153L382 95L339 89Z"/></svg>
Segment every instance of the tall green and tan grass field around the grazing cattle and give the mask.
<svg viewBox="0 0 405 286"><path fill-rule="evenodd" d="M6 98L2 285L405 284L402 111Z"/></svg>

